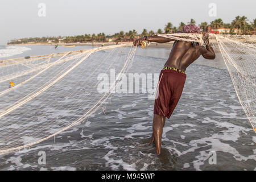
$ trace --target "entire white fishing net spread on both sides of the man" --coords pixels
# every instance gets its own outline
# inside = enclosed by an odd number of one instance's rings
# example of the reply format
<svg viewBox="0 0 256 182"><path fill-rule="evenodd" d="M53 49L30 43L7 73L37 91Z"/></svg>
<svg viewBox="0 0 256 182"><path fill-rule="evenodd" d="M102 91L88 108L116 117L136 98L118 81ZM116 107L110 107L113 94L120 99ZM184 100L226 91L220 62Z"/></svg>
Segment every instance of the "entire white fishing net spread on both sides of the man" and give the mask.
<svg viewBox="0 0 256 182"><path fill-rule="evenodd" d="M200 34L159 36L204 45ZM254 129L255 45L241 40L210 35L216 56L225 61ZM130 67L136 49L127 43L0 60L0 155L54 137L85 121L98 109L104 110L122 81L122 73ZM114 78L111 70L115 71Z"/></svg>

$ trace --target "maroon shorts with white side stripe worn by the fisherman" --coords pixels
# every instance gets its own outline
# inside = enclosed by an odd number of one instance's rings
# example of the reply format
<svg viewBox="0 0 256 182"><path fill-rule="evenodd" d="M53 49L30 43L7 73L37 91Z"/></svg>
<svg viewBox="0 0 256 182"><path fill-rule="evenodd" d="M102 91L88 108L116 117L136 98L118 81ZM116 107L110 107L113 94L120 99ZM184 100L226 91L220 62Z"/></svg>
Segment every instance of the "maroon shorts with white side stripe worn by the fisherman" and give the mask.
<svg viewBox="0 0 256 182"><path fill-rule="evenodd" d="M159 76L158 88L154 105L154 114L170 118L180 96L186 80L185 73L171 69L162 70Z"/></svg>

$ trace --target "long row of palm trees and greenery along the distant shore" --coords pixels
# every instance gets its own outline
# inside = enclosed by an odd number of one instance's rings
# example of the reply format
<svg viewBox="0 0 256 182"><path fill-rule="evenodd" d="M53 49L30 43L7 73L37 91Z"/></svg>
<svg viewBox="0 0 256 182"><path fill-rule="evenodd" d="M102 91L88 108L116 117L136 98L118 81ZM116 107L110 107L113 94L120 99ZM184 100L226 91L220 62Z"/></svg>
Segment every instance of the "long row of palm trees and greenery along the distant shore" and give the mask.
<svg viewBox="0 0 256 182"><path fill-rule="evenodd" d="M196 24L194 19L191 19L188 24ZM141 36L150 36L154 34L172 34L176 31L182 31L185 23L180 22L179 27L174 27L171 22L168 22L165 27L147 31L143 29L141 34L138 34L136 30L130 30L128 32L120 31L114 35L105 35L103 32L100 34L85 34L77 36L58 36L58 37L42 37L42 38L23 38L19 40L11 40L7 44L27 44L27 43L87 43L87 42L126 42L133 41ZM210 24L208 22L202 22L199 24L201 30L208 31L209 28L229 28L228 32L222 34L239 34L239 35L255 35L256 34L256 19L253 22L248 22L246 16L236 16L231 23L224 23L221 18L215 19Z"/></svg>

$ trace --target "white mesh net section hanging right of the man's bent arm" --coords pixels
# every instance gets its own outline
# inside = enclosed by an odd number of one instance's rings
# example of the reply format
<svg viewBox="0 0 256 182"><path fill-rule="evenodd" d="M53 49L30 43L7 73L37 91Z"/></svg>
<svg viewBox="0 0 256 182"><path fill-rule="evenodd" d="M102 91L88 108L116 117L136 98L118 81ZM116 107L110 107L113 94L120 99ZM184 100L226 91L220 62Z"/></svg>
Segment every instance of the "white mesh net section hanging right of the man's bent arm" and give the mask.
<svg viewBox="0 0 256 182"><path fill-rule="evenodd" d="M215 37L226 67L228 68L229 75L232 78L238 99L255 131L256 46L229 39L225 36L215 35Z"/></svg>

